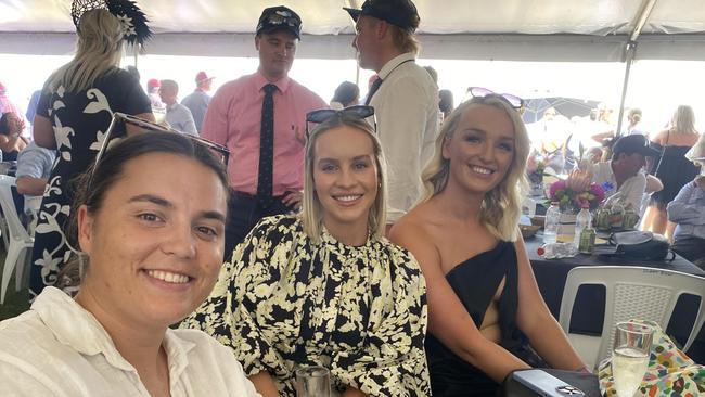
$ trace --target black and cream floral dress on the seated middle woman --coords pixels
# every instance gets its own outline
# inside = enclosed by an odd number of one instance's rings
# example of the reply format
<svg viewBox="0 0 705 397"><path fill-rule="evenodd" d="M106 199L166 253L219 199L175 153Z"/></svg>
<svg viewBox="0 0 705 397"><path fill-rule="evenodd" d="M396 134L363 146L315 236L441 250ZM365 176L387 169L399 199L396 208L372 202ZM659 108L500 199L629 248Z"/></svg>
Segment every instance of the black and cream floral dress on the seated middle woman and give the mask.
<svg viewBox="0 0 705 397"><path fill-rule="evenodd" d="M320 244L295 216L262 219L226 264L210 297L181 326L232 348L245 373L268 371L294 396L303 366L331 371L333 389L428 396L423 350L425 282L415 259L386 239Z"/></svg>

